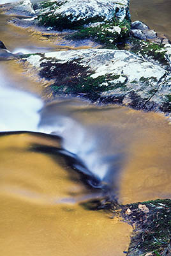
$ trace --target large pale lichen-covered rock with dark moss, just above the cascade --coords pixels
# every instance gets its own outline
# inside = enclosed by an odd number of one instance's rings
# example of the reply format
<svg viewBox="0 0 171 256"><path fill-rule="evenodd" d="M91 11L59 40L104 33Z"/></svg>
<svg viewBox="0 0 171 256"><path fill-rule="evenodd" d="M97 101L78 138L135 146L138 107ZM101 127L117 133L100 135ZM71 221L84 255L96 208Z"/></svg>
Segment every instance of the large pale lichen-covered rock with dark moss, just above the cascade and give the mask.
<svg viewBox="0 0 171 256"><path fill-rule="evenodd" d="M145 110L171 109L170 72L128 51L48 52L22 56L22 61L36 68L40 77L52 80L54 96L84 96L93 102L119 102Z"/></svg>

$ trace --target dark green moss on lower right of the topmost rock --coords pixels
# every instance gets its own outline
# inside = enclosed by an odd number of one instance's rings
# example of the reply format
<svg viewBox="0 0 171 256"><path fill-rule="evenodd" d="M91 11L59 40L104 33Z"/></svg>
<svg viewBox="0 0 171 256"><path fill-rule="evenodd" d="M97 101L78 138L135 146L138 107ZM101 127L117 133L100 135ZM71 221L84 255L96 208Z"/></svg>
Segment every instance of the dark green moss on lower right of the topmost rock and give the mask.
<svg viewBox="0 0 171 256"><path fill-rule="evenodd" d="M121 33L112 31L115 26L121 28ZM68 38L74 40L93 38L96 42L103 44L105 48L116 49L116 45L123 43L128 38L129 33L130 22L124 19L122 22L112 20L112 22L105 22L96 27L82 27Z"/></svg>

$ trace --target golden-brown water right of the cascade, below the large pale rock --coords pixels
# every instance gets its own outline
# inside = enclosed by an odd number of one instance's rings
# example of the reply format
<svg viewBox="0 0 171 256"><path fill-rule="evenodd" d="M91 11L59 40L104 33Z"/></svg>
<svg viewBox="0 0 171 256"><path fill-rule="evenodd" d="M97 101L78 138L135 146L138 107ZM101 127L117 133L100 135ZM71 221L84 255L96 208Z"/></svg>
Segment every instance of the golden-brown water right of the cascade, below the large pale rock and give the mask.
<svg viewBox="0 0 171 256"><path fill-rule="evenodd" d="M89 148L96 145L89 157L96 156L94 161L99 173L107 166L108 177L104 179L118 189L120 202L170 198L171 126L168 118L121 106L101 107L66 100L43 108L40 124L50 125L56 132L61 115L72 118L87 132L82 150L85 141L89 141ZM69 121L67 119L67 123ZM78 134L77 124L65 134L75 131ZM84 158L87 163L86 154ZM93 167L90 169L94 172Z"/></svg>

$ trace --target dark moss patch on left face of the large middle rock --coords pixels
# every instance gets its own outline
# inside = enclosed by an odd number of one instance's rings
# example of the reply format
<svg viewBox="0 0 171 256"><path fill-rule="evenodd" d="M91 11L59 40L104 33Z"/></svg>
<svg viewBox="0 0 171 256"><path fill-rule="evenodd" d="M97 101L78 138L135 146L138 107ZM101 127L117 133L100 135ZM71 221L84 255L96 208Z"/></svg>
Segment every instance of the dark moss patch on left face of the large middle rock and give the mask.
<svg viewBox="0 0 171 256"><path fill-rule="evenodd" d="M94 72L80 65L79 61L81 60L59 63L47 60L41 63L40 76L48 80L54 79L54 84L52 84L54 95L81 95L95 101L100 97L101 92L123 86L117 82L119 75L106 74L96 78L91 77Z"/></svg>

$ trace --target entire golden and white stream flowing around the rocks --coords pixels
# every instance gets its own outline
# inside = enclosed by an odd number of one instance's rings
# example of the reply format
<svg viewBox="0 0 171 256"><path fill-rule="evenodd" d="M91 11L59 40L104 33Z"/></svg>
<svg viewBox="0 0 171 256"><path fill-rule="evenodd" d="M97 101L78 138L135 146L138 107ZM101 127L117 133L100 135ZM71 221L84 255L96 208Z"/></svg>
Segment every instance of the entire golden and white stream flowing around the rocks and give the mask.
<svg viewBox="0 0 171 256"><path fill-rule="evenodd" d="M144 15L146 1L132 0L133 20L171 38L170 3L150 4L153 14ZM0 40L12 52L68 49L7 20L0 13ZM1 255L125 255L132 227L93 205L170 198L168 118L80 99L52 101L47 84L31 76L17 61L0 60Z"/></svg>

